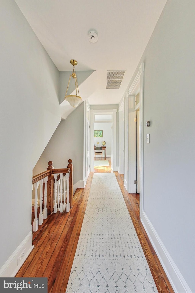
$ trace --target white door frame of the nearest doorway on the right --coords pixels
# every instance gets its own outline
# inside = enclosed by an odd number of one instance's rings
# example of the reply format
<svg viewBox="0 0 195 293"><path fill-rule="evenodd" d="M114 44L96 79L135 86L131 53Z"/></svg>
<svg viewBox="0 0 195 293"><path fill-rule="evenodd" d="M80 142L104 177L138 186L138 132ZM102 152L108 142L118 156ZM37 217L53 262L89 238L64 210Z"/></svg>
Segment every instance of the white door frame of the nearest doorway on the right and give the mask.
<svg viewBox="0 0 195 293"><path fill-rule="evenodd" d="M127 109L128 116L127 119L127 131L128 131L128 162L127 162L127 173L128 173L128 183L127 191L129 193L136 192L136 186L134 180L136 178L136 151L135 151L135 129L136 124L134 122L135 118L135 91L139 89L140 92L140 218L144 210L144 193L143 193L143 99L144 99L144 63L141 63L139 71L136 74L130 88L128 90L127 98Z"/></svg>

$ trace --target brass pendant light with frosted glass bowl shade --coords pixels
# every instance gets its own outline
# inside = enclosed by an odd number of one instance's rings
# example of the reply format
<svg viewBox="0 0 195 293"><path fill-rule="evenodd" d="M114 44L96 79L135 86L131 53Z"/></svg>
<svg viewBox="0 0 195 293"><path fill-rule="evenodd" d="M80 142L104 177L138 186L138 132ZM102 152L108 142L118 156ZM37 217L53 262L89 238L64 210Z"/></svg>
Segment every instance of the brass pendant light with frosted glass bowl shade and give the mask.
<svg viewBox="0 0 195 293"><path fill-rule="evenodd" d="M68 82L68 86L67 86L67 90L66 90L65 99L66 99L66 101L68 101L70 103L70 105L73 108L75 108L75 107L77 107L82 102L82 99L79 96L79 87L78 87L78 81L77 81L76 73L74 71L74 67L78 64L78 62L76 60L74 60L74 59L71 59L70 60L70 63L73 65L73 73L70 74L70 78L69 78L69 82ZM73 78L74 79L74 82L75 82L76 95L68 95L67 96L68 87L69 87L71 78ZM78 94L77 94L77 91L78 91Z"/></svg>

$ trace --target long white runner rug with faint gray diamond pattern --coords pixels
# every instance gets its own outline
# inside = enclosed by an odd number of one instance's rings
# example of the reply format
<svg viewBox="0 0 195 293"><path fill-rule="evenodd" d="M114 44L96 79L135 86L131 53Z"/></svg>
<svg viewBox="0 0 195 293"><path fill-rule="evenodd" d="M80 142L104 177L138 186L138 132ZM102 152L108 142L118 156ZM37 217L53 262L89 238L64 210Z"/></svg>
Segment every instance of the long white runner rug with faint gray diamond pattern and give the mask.
<svg viewBox="0 0 195 293"><path fill-rule="evenodd" d="M157 292L114 173L94 173L66 292Z"/></svg>

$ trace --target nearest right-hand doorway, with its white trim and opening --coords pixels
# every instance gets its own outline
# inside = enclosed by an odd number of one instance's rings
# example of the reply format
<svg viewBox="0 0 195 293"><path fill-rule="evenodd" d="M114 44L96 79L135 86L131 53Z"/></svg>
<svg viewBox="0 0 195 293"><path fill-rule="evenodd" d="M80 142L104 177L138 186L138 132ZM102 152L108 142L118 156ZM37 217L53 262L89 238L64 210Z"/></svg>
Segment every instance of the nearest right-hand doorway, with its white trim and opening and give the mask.
<svg viewBox="0 0 195 293"><path fill-rule="evenodd" d="M140 193L140 218L143 213L143 89L144 63L125 98L124 186L129 193ZM135 123L136 122L136 123Z"/></svg>

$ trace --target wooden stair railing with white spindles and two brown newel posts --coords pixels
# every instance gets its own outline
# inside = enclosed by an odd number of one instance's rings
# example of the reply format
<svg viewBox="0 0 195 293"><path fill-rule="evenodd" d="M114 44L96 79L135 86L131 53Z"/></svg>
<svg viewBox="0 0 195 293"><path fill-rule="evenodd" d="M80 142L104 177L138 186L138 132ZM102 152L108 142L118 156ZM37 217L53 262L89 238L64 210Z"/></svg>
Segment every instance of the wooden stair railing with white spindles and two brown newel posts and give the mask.
<svg viewBox="0 0 195 293"><path fill-rule="evenodd" d="M43 219L51 213L70 211L73 206L73 164L72 160L68 160L67 168L54 169L53 162L48 162L47 171L33 176L33 187L35 189L34 196L34 222L33 231L38 230L38 225L43 224ZM38 211L38 186L40 185L39 206L40 213L37 218ZM43 208L44 196L44 209ZM66 200L67 199L67 200ZM46 204L45 204L46 203Z"/></svg>

